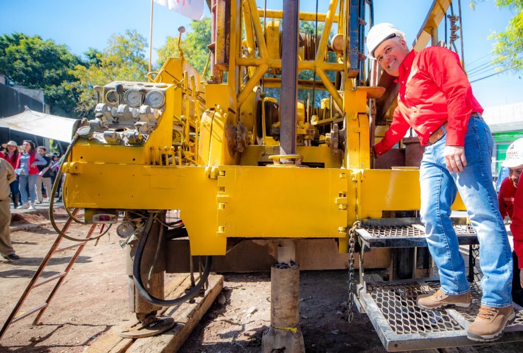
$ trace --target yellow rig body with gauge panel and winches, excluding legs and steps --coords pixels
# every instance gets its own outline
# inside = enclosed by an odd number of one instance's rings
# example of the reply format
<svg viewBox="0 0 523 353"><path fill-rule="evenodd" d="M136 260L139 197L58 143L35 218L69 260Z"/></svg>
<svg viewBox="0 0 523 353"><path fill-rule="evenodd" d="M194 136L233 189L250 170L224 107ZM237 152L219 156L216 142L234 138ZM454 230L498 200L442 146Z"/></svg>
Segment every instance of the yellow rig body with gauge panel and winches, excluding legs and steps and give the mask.
<svg viewBox="0 0 523 353"><path fill-rule="evenodd" d="M317 48L299 49L298 70L320 80L299 80L298 89L328 96L300 102L297 156L278 157L280 102L263 92L281 84L282 11L270 12L264 30L255 0L218 2L217 18L226 20L210 80L181 57L149 82L104 86L92 136L78 140L63 167L67 207L179 209L191 255L225 255L228 238L334 238L343 253L356 220L417 211L417 170L371 168L369 104L385 90L367 86L357 71L364 61L351 59L350 31L364 30L350 21L351 3L330 0ZM344 47L329 60L335 23Z"/></svg>

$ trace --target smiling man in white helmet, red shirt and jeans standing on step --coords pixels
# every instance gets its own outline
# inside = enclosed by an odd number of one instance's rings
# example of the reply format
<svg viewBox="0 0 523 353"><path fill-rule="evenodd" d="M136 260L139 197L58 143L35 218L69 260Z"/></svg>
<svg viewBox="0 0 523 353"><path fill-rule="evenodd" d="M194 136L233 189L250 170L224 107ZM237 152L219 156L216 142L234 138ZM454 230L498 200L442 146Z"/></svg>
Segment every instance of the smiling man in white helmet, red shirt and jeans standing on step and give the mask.
<svg viewBox="0 0 523 353"><path fill-rule="evenodd" d="M420 214L441 288L418 296L418 306L435 310L471 305L470 285L450 219L450 206L459 191L480 241L484 274L480 311L467 336L475 341L497 339L515 319L510 295L512 259L492 185L493 140L481 117L483 108L472 94L458 55L451 50L409 50L404 33L387 23L370 29L367 48L369 56L400 84L392 124L374 146L376 155L391 149L410 127L425 146L419 168Z"/></svg>

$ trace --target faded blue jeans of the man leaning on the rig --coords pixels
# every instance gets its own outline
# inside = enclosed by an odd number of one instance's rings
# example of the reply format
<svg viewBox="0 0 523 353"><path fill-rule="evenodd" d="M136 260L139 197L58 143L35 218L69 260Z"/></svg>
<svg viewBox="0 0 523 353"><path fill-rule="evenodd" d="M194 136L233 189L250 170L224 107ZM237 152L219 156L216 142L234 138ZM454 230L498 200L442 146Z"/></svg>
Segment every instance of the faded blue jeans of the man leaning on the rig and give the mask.
<svg viewBox="0 0 523 353"><path fill-rule="evenodd" d="M465 135L467 167L458 174L450 173L445 166L446 137L425 147L419 168L420 213L430 254L439 269L441 290L449 295L470 291L458 238L450 219L450 206L459 191L480 242L481 304L491 307L511 305L512 256L492 184L491 131L482 119L470 118Z"/></svg>

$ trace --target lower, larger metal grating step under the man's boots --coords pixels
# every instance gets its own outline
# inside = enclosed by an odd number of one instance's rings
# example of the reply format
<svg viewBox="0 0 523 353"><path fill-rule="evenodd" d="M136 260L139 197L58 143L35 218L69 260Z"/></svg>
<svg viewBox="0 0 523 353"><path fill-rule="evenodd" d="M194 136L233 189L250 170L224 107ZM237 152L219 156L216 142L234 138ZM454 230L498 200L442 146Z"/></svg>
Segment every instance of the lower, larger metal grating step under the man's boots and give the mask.
<svg viewBox="0 0 523 353"><path fill-rule="evenodd" d="M467 338L467 327L481 300L479 286L471 286L473 305L466 310L430 311L416 306L417 295L439 288L435 278L367 283L359 290L359 304L388 351L471 346L479 343ZM517 304L514 308L516 321L496 342L523 340L523 308Z"/></svg>

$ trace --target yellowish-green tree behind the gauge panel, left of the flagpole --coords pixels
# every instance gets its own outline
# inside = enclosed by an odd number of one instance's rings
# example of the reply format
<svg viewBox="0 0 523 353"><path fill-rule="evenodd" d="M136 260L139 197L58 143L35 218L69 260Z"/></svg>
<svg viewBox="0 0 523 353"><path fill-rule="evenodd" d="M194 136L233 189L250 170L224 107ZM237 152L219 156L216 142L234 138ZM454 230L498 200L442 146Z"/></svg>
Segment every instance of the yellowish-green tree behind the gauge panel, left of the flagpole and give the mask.
<svg viewBox="0 0 523 353"><path fill-rule="evenodd" d="M93 87L103 86L115 80L145 81L148 63L145 60L147 40L136 30L125 34L113 34L103 51L90 48L85 53L87 64L79 64L71 70L77 80L67 87L79 92L76 112L79 116L93 116L96 94Z"/></svg>

